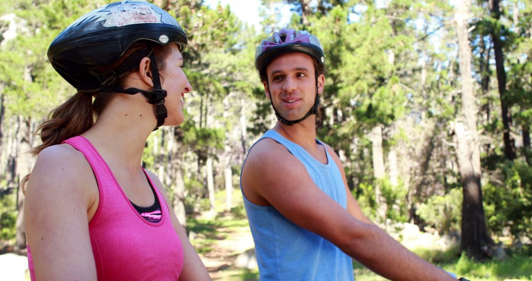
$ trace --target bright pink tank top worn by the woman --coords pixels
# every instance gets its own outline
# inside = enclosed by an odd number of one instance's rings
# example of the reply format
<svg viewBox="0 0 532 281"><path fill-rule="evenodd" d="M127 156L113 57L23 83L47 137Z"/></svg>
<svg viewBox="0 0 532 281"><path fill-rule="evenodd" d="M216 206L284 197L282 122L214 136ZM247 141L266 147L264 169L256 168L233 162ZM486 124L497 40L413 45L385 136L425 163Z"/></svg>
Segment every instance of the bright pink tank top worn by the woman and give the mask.
<svg viewBox="0 0 532 281"><path fill-rule="evenodd" d="M177 280L183 267L181 240L172 226L167 203L148 175L161 203L162 219L156 223L140 216L86 138L77 136L63 143L83 153L96 176L99 204L89 222L89 234L98 280ZM35 281L29 247L28 263Z"/></svg>

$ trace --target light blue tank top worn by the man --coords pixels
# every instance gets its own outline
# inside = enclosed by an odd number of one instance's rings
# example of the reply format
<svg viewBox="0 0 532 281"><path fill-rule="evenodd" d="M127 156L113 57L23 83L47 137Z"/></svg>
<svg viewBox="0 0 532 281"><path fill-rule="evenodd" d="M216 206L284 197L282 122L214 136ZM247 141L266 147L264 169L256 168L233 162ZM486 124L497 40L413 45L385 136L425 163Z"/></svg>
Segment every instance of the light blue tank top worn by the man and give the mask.
<svg viewBox="0 0 532 281"><path fill-rule="evenodd" d="M272 138L284 145L304 164L314 183L344 209L347 208L342 174L323 143L316 140L325 149L327 164L276 131L267 131L259 141L263 138ZM243 197L255 242L260 280L353 280L351 257L342 250L325 238L293 224L272 205L255 205L245 195Z"/></svg>

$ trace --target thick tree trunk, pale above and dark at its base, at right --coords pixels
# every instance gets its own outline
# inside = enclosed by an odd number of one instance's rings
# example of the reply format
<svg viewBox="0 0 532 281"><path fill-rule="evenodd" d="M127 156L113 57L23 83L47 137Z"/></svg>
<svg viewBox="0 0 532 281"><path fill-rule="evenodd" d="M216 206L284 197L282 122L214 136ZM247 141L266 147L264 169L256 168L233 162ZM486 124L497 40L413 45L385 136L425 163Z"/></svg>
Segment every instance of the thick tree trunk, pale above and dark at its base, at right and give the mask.
<svg viewBox="0 0 532 281"><path fill-rule="evenodd" d="M458 31L459 66L462 80L462 114L465 126L454 123L456 158L460 167L463 187L461 250L479 259L482 246L491 243L486 230L482 192L480 187L480 149L477 136L477 108L471 77L471 48L469 47L467 19L469 0L458 4L455 22Z"/></svg>

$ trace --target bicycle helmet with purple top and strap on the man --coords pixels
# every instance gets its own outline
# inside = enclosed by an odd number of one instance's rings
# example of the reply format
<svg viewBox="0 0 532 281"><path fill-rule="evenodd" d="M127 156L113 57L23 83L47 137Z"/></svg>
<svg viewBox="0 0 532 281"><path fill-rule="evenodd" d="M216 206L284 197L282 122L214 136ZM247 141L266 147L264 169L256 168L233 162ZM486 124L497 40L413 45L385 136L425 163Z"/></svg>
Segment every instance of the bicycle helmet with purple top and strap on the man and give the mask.
<svg viewBox="0 0 532 281"><path fill-rule="evenodd" d="M268 39L262 40L262 43L257 47L255 51L255 69L259 72L259 76L266 76L266 68L271 61L275 60L277 57L289 54L289 53L304 53L312 57L316 62L317 66L325 67L325 52L323 52L323 47L321 46L318 37L310 34L306 30L296 31L293 28L290 29L281 29L281 31L273 32L273 34L268 37ZM316 79L316 95L314 98L314 105L307 112L304 117L297 120L287 120L282 117L271 101L271 106L275 115L279 121L285 125L292 126L296 123L299 123L311 114L318 113L318 105L320 104L319 95L318 95L318 70L314 69L315 79ZM268 84L268 89L270 89L270 84L268 79L266 79Z"/></svg>

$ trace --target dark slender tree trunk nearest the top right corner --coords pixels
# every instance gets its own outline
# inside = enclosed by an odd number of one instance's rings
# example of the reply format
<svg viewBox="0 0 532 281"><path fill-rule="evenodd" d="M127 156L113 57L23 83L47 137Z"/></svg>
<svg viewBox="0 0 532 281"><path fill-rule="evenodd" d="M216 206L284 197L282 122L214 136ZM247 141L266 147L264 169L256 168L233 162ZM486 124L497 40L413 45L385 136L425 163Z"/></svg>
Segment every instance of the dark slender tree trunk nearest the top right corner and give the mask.
<svg viewBox="0 0 532 281"><path fill-rule="evenodd" d="M498 21L501 18L500 0L493 0L492 15ZM516 159L515 142L510 135L512 127L512 112L506 101L506 71L504 70L504 54L502 52L500 30L492 30L493 50L495 52L495 67L497 69L498 91L501 98L502 122L504 127L504 155L510 160Z"/></svg>

